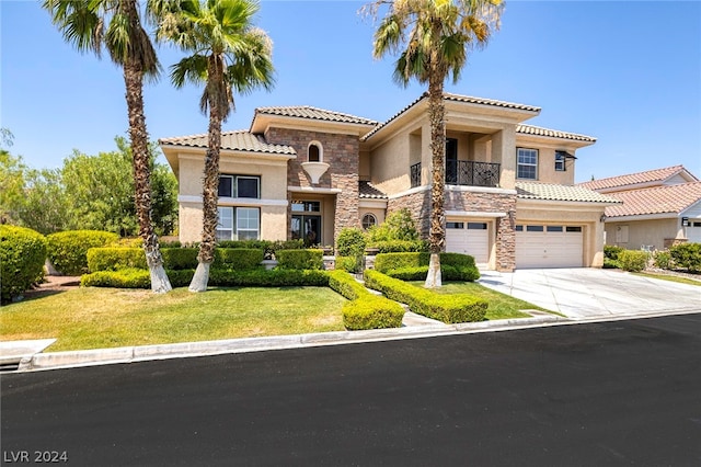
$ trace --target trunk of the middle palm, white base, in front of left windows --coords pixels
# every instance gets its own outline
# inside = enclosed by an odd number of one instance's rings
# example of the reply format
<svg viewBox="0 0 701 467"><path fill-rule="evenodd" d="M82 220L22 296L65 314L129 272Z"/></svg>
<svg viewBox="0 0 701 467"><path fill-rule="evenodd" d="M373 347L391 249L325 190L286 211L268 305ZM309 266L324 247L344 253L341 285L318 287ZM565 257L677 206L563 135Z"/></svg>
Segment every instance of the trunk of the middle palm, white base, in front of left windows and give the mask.
<svg viewBox="0 0 701 467"><path fill-rule="evenodd" d="M217 225L219 224L219 151L221 148L221 109L217 87L212 82L223 82L223 68L215 57L210 57L207 69L207 94L209 96L208 147L205 156L205 179L203 181L203 229L197 270L189 283L189 292L205 292L209 283L209 266L215 260L217 247Z"/></svg>

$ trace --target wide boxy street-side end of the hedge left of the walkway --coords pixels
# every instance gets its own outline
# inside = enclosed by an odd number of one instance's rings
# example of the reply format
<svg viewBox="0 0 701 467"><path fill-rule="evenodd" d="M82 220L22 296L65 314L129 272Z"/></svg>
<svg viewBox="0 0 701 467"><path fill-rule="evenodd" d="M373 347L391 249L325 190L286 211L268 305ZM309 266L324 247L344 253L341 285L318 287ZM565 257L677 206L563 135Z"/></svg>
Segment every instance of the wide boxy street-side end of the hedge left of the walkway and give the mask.
<svg viewBox="0 0 701 467"><path fill-rule="evenodd" d="M400 304L370 294L344 304L342 312L343 324L350 331L400 328L404 318Z"/></svg>

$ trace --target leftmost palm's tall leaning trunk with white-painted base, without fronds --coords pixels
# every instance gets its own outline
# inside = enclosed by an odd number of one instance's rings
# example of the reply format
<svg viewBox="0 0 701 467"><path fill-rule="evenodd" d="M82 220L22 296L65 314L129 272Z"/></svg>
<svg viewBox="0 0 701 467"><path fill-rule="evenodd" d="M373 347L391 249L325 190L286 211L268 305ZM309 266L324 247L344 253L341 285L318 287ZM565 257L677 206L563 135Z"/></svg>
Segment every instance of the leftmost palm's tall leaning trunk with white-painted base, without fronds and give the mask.
<svg viewBox="0 0 701 467"><path fill-rule="evenodd" d="M136 10L135 10L136 12ZM138 21L138 20L137 20ZM134 159L134 185L136 213L139 221L139 235L143 241L146 263L151 275L151 291L158 294L172 291L163 267L163 258L158 244L158 236L151 221L151 160L149 156L143 115L143 70L129 60L124 66L127 111L129 114L129 137Z"/></svg>

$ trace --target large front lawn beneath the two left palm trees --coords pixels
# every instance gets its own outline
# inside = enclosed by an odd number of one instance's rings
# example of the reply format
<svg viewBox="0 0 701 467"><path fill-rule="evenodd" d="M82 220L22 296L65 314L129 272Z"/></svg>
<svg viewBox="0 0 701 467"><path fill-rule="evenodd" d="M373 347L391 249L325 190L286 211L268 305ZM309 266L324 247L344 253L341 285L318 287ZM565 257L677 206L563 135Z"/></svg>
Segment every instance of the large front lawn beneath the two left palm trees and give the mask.
<svg viewBox="0 0 701 467"><path fill-rule="evenodd" d="M0 339L56 338L48 350L106 349L342 331L346 301L326 287L193 294L81 287L0 308Z"/></svg>

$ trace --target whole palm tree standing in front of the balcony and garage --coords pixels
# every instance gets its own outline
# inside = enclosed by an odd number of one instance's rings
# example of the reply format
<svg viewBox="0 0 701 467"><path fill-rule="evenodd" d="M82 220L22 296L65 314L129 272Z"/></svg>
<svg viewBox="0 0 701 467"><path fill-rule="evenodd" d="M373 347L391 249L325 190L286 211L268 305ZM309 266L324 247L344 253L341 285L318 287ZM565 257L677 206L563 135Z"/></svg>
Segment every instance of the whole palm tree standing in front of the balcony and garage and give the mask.
<svg viewBox="0 0 701 467"><path fill-rule="evenodd" d="M499 26L502 0L377 0L370 14L388 4L387 15L375 32L374 56L400 53L393 79L406 87L412 78L428 83L430 123L430 263L426 287L439 287L445 230L445 104L444 81L458 82L468 50L486 45Z"/></svg>

